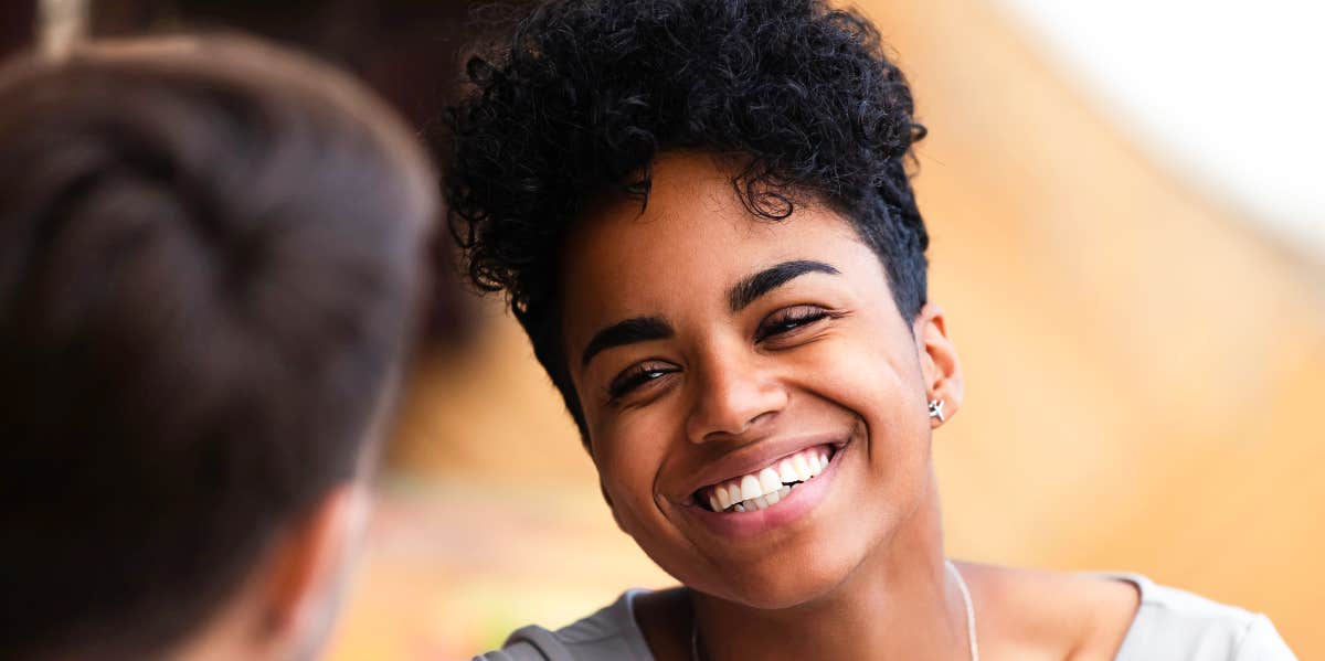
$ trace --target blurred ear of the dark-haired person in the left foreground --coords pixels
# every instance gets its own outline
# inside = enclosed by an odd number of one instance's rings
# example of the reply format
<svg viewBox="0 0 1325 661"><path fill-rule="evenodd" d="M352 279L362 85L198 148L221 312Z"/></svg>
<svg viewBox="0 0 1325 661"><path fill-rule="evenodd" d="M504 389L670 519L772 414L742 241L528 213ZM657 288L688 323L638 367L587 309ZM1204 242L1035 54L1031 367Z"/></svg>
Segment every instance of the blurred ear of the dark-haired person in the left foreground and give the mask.
<svg viewBox="0 0 1325 661"><path fill-rule="evenodd" d="M303 648L330 627L347 566L367 527L368 489L351 482L333 489L277 543L265 591L266 635Z"/></svg>

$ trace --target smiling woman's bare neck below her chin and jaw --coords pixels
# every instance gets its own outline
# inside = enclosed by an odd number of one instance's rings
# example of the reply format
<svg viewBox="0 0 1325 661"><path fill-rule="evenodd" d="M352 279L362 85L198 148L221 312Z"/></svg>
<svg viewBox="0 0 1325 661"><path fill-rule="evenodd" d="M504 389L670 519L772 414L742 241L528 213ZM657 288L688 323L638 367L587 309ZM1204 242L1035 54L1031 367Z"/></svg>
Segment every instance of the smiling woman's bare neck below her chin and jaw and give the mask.
<svg viewBox="0 0 1325 661"><path fill-rule="evenodd" d="M890 539L819 599L779 611L698 592L692 600L705 661L969 658L966 607L946 568L933 486Z"/></svg>

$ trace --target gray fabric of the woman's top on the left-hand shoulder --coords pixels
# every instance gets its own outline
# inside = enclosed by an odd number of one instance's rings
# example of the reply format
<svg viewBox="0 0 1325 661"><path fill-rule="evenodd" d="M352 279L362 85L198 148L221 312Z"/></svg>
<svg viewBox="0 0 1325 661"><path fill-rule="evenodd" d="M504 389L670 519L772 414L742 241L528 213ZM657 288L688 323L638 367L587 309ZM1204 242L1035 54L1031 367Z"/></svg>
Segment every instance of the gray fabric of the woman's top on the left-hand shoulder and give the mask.
<svg viewBox="0 0 1325 661"><path fill-rule="evenodd" d="M635 597L624 592L611 605L556 631L530 625L517 629L501 649L474 661L653 661L635 620Z"/></svg>

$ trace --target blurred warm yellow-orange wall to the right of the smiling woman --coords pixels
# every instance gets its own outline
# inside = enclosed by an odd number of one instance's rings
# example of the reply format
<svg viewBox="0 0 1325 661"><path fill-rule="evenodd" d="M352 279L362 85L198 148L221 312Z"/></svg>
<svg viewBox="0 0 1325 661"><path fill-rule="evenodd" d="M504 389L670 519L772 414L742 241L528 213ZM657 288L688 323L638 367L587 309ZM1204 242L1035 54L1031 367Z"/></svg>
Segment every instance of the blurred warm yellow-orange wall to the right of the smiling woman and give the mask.
<svg viewBox="0 0 1325 661"><path fill-rule="evenodd" d="M931 130L953 552L1141 571L1325 657L1325 269L1149 164L984 1L864 7Z"/></svg>

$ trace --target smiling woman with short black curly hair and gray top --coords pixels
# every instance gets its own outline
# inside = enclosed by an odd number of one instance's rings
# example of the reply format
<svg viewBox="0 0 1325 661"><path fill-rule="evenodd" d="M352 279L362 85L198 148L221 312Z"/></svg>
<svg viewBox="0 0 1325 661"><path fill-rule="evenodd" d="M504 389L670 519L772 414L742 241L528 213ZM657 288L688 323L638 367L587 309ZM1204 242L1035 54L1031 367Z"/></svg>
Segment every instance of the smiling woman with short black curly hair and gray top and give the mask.
<svg viewBox="0 0 1325 661"><path fill-rule="evenodd" d="M469 66L444 166L616 522L684 587L490 660L1293 658L1138 576L943 552L962 404L878 34L814 0L563 1Z"/></svg>

